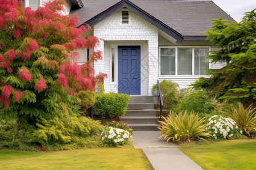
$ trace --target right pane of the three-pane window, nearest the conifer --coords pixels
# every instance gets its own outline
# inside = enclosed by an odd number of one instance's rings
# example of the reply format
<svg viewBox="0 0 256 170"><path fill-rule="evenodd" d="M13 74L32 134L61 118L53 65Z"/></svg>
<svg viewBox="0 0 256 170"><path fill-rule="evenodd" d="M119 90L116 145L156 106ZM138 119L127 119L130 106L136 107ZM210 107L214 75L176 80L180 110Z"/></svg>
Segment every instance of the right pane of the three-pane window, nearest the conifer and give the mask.
<svg viewBox="0 0 256 170"><path fill-rule="evenodd" d="M195 75L207 75L206 69L209 69L208 48L195 48Z"/></svg>

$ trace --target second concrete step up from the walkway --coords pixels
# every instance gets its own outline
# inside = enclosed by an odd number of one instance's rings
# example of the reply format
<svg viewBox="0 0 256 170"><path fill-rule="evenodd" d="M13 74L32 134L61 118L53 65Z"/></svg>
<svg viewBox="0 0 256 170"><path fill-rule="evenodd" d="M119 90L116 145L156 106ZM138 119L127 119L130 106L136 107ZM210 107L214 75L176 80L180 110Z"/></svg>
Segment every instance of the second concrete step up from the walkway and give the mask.
<svg viewBox="0 0 256 170"><path fill-rule="evenodd" d="M159 117L155 116L122 116L120 120L127 124L158 124Z"/></svg>

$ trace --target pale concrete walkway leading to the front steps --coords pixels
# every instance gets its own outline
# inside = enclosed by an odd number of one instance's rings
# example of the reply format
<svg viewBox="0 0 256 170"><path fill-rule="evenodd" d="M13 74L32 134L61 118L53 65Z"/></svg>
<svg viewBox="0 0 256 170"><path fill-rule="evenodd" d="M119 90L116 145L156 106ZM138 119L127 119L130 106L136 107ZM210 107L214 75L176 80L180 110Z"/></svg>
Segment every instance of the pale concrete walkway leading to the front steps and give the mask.
<svg viewBox="0 0 256 170"><path fill-rule="evenodd" d="M201 170L202 168L188 158L172 142L159 139L159 131L133 131L134 148L142 148L155 170Z"/></svg>

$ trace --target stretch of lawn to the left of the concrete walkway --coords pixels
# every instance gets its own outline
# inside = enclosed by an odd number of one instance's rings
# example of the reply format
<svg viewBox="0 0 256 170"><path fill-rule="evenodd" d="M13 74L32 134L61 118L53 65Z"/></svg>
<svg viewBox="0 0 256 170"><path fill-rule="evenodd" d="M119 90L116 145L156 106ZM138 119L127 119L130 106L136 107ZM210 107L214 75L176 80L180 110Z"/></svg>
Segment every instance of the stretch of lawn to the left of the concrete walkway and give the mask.
<svg viewBox="0 0 256 170"><path fill-rule="evenodd" d="M92 148L58 152L0 150L0 169L151 169L142 150Z"/></svg>

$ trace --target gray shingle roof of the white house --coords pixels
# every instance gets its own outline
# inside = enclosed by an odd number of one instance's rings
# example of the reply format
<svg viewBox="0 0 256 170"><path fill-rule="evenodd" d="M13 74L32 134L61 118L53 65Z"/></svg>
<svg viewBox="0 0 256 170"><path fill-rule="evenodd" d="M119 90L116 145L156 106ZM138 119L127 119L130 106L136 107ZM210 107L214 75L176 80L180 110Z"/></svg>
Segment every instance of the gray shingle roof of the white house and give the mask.
<svg viewBox="0 0 256 170"><path fill-rule="evenodd" d="M119 0L82 0L84 7L71 11L79 15L79 24L118 3ZM183 36L203 36L211 20L228 15L212 1L163 1L130 0L148 14L154 16ZM230 16L226 20L234 21Z"/></svg>

